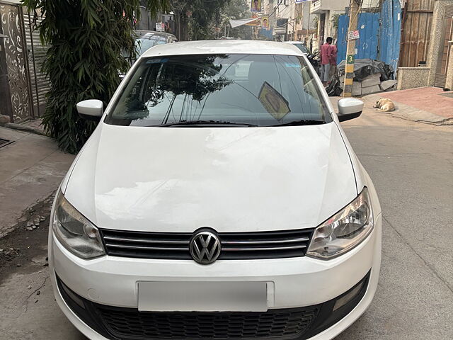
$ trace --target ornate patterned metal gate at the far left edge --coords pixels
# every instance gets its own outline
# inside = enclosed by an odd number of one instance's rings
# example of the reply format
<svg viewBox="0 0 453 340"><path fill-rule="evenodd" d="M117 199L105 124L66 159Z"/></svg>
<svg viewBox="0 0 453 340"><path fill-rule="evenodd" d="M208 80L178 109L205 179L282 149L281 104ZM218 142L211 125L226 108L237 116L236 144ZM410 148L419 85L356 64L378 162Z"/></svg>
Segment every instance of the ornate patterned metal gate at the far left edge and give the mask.
<svg viewBox="0 0 453 340"><path fill-rule="evenodd" d="M4 38L4 53L8 84L11 91L11 111L14 123L33 118L31 86L28 67L25 28L22 8L0 3L0 25Z"/></svg>

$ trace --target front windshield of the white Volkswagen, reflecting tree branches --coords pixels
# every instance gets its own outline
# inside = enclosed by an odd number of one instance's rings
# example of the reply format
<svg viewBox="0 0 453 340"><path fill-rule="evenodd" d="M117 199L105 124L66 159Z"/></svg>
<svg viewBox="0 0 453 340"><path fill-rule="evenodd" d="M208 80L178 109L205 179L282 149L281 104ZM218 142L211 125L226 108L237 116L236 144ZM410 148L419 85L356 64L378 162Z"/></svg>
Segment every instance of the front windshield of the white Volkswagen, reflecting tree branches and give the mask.
<svg viewBox="0 0 453 340"><path fill-rule="evenodd" d="M303 57L174 55L143 59L105 120L113 125L331 122ZM222 126L224 126L222 125Z"/></svg>

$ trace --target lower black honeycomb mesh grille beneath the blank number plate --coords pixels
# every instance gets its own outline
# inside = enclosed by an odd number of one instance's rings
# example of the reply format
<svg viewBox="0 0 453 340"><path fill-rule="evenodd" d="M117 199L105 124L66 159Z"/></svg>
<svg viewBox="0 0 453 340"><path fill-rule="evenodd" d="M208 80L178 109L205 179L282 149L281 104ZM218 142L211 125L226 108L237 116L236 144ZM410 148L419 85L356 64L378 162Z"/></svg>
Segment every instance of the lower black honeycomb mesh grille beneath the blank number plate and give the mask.
<svg viewBox="0 0 453 340"><path fill-rule="evenodd" d="M108 331L121 339L253 339L300 334L309 328L319 307L263 313L145 313L98 305L98 312Z"/></svg>

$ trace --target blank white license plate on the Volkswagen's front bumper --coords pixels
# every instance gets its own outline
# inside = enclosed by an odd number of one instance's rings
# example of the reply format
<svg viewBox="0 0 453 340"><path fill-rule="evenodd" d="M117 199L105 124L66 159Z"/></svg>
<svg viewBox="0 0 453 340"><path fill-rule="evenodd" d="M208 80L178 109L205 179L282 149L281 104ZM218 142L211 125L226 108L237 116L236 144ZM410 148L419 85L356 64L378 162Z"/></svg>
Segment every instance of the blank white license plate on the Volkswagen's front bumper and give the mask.
<svg viewBox="0 0 453 340"><path fill-rule="evenodd" d="M141 312L265 312L266 282L140 281Z"/></svg>

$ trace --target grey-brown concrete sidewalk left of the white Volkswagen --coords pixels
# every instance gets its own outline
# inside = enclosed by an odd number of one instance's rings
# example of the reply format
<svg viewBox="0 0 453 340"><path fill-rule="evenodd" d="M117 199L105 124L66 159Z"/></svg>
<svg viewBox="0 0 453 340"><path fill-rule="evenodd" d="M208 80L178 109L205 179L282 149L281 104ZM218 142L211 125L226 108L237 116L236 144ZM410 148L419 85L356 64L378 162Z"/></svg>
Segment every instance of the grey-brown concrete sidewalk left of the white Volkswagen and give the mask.
<svg viewBox="0 0 453 340"><path fill-rule="evenodd" d="M49 137L0 127L0 237L55 193L73 159Z"/></svg>

